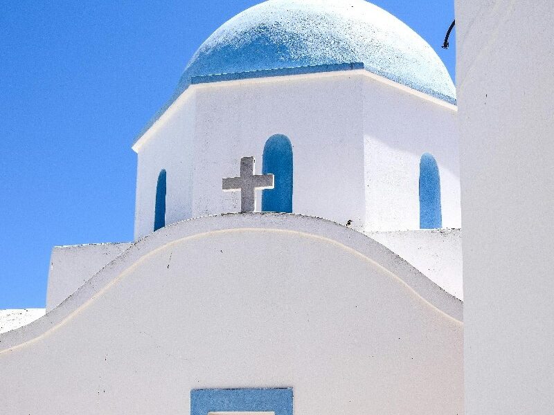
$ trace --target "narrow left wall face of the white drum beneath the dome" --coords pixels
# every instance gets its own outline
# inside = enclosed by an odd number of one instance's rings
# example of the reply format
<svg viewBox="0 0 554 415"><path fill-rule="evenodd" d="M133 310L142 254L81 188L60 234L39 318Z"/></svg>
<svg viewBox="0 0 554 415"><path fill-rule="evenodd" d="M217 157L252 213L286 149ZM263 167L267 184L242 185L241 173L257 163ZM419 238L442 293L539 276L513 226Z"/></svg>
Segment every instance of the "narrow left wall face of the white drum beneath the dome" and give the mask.
<svg viewBox="0 0 554 415"><path fill-rule="evenodd" d="M166 224L192 217L195 94L181 95L139 145L136 178L135 239L154 230L156 188L166 170Z"/></svg>

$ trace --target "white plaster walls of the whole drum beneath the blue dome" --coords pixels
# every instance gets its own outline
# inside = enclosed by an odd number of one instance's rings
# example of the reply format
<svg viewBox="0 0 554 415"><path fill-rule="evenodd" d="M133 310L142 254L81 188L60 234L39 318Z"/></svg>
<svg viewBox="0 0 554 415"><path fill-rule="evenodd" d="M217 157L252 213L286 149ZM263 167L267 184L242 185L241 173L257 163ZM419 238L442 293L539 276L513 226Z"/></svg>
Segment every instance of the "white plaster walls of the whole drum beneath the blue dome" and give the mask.
<svg viewBox="0 0 554 415"><path fill-rule="evenodd" d="M168 174L166 223L240 211L222 192L240 158L261 171L265 141L287 136L294 153L293 212L359 230L419 228L419 163L436 156L443 225L460 225L454 106L367 71L190 86L136 145L135 237L152 232L156 183ZM258 198L258 204L260 203Z"/></svg>

